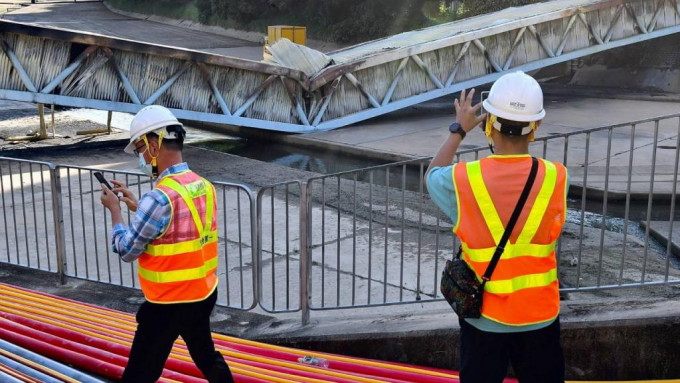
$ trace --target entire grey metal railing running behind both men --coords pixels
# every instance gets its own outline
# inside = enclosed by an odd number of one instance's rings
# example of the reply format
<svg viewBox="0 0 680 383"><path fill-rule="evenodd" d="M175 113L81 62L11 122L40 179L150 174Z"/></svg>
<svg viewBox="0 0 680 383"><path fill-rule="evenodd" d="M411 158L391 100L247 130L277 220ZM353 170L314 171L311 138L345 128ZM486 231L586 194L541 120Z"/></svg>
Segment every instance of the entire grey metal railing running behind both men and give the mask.
<svg viewBox="0 0 680 383"><path fill-rule="evenodd" d="M680 114L538 138L530 152L569 169L558 241L562 291L680 283L672 240ZM456 161L486 155L460 151ZM440 300L458 241L422 179L429 159L261 188L215 182L220 304L267 312ZM136 287L135 266L110 250L96 169L0 157L0 261ZM101 170L137 193L137 173ZM131 216L128 213L128 219Z"/></svg>

